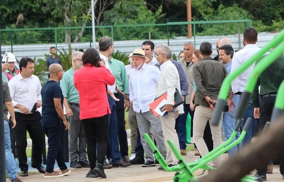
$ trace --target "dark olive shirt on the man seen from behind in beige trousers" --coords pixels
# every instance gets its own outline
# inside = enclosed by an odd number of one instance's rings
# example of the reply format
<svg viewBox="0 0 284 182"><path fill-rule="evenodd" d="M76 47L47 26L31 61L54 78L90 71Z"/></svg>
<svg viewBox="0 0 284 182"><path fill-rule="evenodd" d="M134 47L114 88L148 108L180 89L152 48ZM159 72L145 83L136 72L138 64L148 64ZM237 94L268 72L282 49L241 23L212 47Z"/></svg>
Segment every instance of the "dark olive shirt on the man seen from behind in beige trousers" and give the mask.
<svg viewBox="0 0 284 182"><path fill-rule="evenodd" d="M217 100L221 85L228 75L226 67L212 57L202 58L193 68L196 85L195 105L210 107L205 96Z"/></svg>

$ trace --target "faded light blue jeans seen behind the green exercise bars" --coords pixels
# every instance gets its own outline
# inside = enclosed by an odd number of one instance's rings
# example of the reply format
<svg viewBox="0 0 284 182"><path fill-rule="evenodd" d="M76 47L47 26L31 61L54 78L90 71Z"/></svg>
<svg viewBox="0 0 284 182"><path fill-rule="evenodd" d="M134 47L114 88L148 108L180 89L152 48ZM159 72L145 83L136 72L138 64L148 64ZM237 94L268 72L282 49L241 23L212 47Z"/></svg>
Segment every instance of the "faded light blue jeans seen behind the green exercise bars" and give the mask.
<svg viewBox="0 0 284 182"><path fill-rule="evenodd" d="M235 112L239 105L240 96L234 94L232 100L234 101L235 106L236 106L236 107L232 107L233 111ZM236 124L237 124L237 121L234 118L234 114L230 111L224 112L223 120L222 120L222 129L223 129L223 135L226 141L231 137L236 127ZM235 142L239 138L240 138L240 129L238 130L237 135L233 139L232 143ZM241 147L242 147L242 143L239 143L237 146L234 146L233 148L228 150L228 156L232 157L233 154L237 153L237 151L241 149Z"/></svg>

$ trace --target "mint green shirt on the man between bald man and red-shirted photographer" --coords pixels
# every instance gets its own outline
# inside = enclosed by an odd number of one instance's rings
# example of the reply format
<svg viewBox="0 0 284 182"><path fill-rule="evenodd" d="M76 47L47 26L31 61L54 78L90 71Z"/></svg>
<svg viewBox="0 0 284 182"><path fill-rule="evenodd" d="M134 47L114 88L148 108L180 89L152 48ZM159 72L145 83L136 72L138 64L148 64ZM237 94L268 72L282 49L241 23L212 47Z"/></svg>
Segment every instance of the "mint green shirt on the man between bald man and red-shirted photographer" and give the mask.
<svg viewBox="0 0 284 182"><path fill-rule="evenodd" d="M66 97L68 102L79 104L79 92L74 85L74 73L72 67L66 71L60 81L60 87L63 97Z"/></svg>

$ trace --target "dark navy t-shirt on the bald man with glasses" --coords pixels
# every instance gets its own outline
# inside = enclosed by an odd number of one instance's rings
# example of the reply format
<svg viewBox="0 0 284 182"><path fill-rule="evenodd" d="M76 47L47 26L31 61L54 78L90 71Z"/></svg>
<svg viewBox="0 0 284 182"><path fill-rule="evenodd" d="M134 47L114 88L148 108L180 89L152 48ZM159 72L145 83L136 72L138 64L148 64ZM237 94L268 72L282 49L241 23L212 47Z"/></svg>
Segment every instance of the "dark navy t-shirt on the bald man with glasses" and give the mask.
<svg viewBox="0 0 284 182"><path fill-rule="evenodd" d="M56 81L47 81L40 91L42 99L41 117L54 117L58 116L53 98L61 98L61 106L63 108L63 95L62 90Z"/></svg>

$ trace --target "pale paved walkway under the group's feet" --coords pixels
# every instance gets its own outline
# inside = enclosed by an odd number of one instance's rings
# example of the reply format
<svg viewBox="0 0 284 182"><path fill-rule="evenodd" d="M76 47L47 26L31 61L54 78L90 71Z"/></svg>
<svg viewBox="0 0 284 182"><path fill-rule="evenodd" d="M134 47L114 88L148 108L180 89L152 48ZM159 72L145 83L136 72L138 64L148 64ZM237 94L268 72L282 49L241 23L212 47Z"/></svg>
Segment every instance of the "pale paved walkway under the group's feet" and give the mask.
<svg viewBox="0 0 284 182"><path fill-rule="evenodd" d="M189 151L188 155L185 156L185 160L187 162L193 162L198 156L194 156L193 151ZM222 161L227 160L227 154L223 154L221 156ZM160 165L156 165L156 167L141 167L141 165L133 165L126 168L113 168L109 170L105 170L107 174L107 179L102 178L86 178L86 173L88 173L89 168L82 168L82 169L71 169L72 172L65 177L60 178L44 178L43 174L39 175L31 175L29 177L23 177L24 182L96 182L96 181L105 181L105 182L172 182L174 177L174 172L163 172L158 171L157 167ZM59 169L55 169L59 170ZM194 174L198 176L202 173L202 170L196 171ZM254 171L251 175L254 175ZM267 174L267 180L270 182L283 182L282 176L279 172L279 165L273 166L273 174ZM7 179L7 181L9 181Z"/></svg>

